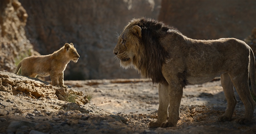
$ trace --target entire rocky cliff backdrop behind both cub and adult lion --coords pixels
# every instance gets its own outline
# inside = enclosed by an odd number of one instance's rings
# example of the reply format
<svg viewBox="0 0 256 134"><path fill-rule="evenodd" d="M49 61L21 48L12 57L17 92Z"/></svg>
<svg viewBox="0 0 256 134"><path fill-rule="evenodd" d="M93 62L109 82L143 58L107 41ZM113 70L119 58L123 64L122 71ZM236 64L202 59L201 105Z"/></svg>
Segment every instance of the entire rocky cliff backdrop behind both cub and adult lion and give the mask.
<svg viewBox="0 0 256 134"><path fill-rule="evenodd" d="M164 21L193 39L243 40L253 37L255 5L256 1L1 0L0 71L14 72L24 57L51 54L72 42L80 58L68 64L64 79L139 78L134 69L121 68L112 53L116 35L132 18Z"/></svg>

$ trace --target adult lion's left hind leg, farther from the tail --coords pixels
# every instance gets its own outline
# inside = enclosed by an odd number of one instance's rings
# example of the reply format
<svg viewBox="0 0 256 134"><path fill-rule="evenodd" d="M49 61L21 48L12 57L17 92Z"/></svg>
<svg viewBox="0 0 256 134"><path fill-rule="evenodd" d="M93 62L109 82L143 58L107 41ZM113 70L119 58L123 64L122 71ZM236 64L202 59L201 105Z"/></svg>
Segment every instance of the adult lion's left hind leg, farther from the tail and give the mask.
<svg viewBox="0 0 256 134"><path fill-rule="evenodd" d="M225 97L228 102L227 109L225 111L225 114L222 116L219 116L218 121L219 122L225 122L230 121L232 118L232 115L234 113L235 107L236 107L236 97L234 94L234 85L228 75L228 73L220 75L221 79L221 85L224 90Z"/></svg>

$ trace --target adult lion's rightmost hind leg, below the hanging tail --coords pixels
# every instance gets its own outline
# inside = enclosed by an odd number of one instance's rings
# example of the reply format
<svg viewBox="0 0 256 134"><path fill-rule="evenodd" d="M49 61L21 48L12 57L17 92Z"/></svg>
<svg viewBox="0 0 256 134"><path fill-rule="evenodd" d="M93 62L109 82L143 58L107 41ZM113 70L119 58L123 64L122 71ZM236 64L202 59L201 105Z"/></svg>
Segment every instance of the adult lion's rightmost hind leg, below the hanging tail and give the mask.
<svg viewBox="0 0 256 134"><path fill-rule="evenodd" d="M241 98L243 105L245 107L245 114L242 118L236 119L236 122L240 124L250 124L253 118L253 111L255 108L255 101L253 100L248 84L249 73L241 73L240 75L231 76L231 80Z"/></svg>

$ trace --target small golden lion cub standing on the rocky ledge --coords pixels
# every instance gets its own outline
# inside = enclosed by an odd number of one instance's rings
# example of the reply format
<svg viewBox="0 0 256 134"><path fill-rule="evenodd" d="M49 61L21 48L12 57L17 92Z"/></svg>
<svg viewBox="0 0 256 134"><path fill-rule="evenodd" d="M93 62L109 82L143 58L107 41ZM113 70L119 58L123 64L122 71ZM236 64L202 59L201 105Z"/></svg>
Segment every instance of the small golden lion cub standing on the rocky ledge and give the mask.
<svg viewBox="0 0 256 134"><path fill-rule="evenodd" d="M50 55L30 56L23 59L14 74L17 74L21 67L22 76L46 77L50 75L51 85L68 88L64 85L63 72L70 60L76 63L79 57L73 43L66 43L65 46Z"/></svg>

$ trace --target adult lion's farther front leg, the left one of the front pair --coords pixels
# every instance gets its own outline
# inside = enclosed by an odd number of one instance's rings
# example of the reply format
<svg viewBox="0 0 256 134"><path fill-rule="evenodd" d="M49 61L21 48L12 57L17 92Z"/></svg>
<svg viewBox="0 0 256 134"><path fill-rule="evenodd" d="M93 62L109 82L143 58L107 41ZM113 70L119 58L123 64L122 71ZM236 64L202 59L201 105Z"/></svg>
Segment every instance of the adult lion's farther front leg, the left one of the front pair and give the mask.
<svg viewBox="0 0 256 134"><path fill-rule="evenodd" d="M165 123L168 118L168 85L159 84L158 86L159 95L159 107L157 111L157 120L151 121L149 127L160 127L162 123Z"/></svg>

